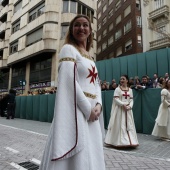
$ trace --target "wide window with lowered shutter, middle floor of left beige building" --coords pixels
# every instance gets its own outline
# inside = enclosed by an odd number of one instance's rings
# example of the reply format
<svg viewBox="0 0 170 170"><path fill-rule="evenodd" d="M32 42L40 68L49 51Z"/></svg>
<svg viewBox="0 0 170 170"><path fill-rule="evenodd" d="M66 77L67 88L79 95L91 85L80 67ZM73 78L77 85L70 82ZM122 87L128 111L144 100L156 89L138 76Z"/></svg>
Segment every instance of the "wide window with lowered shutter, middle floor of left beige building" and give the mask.
<svg viewBox="0 0 170 170"><path fill-rule="evenodd" d="M26 46L32 45L40 40L42 40L43 28L40 28L33 33L27 35Z"/></svg>

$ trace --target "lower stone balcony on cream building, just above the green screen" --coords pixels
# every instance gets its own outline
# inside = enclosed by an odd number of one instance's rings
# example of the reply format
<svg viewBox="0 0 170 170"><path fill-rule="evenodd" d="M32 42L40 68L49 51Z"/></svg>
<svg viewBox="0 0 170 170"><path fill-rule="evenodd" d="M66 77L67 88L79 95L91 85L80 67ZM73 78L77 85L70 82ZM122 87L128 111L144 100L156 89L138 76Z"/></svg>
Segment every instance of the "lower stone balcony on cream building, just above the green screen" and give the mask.
<svg viewBox="0 0 170 170"><path fill-rule="evenodd" d="M170 47L170 37L164 37L150 42L150 50Z"/></svg>

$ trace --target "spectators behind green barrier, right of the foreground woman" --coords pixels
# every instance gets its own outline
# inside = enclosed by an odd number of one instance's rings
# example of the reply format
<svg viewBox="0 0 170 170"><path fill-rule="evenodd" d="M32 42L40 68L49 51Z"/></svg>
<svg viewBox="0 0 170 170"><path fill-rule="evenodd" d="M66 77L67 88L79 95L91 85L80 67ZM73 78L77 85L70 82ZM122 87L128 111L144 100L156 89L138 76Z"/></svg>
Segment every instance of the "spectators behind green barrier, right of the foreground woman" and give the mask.
<svg viewBox="0 0 170 170"><path fill-rule="evenodd" d="M129 78L129 87L132 89L147 89L147 88L163 88L167 80L169 80L169 74L165 73L164 76L158 76L157 73L154 73L153 77L150 78L148 75L142 76L140 79L138 76ZM119 85L119 82L116 82L115 79L112 82L107 82L106 80L101 81L101 90L115 90Z"/></svg>

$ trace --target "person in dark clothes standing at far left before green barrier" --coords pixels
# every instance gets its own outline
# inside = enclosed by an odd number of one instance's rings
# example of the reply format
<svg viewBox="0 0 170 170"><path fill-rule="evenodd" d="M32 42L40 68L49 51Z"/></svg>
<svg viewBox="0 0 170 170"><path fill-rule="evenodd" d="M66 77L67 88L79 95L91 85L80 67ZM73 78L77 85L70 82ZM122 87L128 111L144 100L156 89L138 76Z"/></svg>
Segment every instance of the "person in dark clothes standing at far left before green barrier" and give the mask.
<svg viewBox="0 0 170 170"><path fill-rule="evenodd" d="M14 119L15 117L15 96L16 91L10 89L8 94L7 119Z"/></svg>

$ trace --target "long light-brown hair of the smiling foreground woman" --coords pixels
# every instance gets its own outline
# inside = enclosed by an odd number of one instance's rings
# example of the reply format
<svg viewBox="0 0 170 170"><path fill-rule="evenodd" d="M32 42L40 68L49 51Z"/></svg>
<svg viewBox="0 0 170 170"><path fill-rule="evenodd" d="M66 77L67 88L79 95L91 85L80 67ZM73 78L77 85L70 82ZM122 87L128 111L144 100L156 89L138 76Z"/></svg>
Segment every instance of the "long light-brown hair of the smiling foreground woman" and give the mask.
<svg viewBox="0 0 170 170"><path fill-rule="evenodd" d="M76 17L73 18L73 20L70 22L69 30L67 32L64 44L71 44L71 45L74 45L77 48L79 48L78 43L73 36L73 24L74 24L75 20L78 18L85 18L89 22L91 33L90 33L89 37L87 38L87 42L86 42L86 50L89 51L92 46L92 43L93 43L93 35L92 35L91 21L90 21L89 17L86 15L77 15Z"/></svg>

